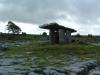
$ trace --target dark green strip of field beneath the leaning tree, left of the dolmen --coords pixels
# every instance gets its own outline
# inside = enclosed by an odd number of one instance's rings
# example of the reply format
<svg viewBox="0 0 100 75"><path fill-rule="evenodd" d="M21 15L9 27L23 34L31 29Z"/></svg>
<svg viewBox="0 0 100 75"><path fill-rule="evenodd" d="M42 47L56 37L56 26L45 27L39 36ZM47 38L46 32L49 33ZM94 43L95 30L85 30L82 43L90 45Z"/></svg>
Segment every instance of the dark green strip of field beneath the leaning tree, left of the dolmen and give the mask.
<svg viewBox="0 0 100 75"><path fill-rule="evenodd" d="M42 35L32 35L32 34L6 34L2 33L0 34L0 41L5 41L5 42L14 42L14 41L37 41L42 38Z"/></svg>

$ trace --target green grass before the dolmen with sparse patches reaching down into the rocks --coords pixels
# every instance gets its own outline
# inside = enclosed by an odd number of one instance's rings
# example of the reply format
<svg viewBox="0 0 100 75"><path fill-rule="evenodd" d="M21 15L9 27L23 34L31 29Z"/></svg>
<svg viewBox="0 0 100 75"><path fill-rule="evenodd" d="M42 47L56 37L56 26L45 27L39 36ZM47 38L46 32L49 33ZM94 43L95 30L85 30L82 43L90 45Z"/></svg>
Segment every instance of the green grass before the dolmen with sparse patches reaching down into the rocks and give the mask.
<svg viewBox="0 0 100 75"><path fill-rule="evenodd" d="M27 53L29 52L29 53ZM5 52L7 56L23 55L28 61L28 65L31 66L30 58L39 57L43 61L37 61L38 67L44 66L57 66L61 67L66 62L66 55L77 55L82 60L98 59L100 60L100 47L94 45L85 44L55 44L55 45L40 45L40 44L27 44L20 47L11 48ZM48 61L48 60L49 61ZM45 60L45 61L44 61ZM54 60L58 60L55 62Z"/></svg>

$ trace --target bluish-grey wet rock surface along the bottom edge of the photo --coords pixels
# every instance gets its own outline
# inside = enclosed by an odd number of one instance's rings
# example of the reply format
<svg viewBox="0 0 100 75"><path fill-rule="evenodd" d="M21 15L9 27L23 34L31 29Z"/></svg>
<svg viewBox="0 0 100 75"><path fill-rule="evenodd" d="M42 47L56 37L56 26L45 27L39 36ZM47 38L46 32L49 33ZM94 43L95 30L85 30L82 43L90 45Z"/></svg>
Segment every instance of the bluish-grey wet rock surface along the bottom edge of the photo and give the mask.
<svg viewBox="0 0 100 75"><path fill-rule="evenodd" d="M100 75L100 68L96 60L77 62L66 67L37 67L34 57L33 63L27 65L27 58L0 58L0 75Z"/></svg>

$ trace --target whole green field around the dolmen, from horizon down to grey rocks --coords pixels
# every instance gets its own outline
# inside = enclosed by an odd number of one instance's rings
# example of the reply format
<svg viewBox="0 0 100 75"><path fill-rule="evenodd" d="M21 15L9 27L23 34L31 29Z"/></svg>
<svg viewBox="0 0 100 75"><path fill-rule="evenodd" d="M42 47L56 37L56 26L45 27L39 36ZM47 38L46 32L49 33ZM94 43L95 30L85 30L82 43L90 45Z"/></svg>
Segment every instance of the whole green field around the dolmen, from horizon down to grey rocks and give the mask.
<svg viewBox="0 0 100 75"><path fill-rule="evenodd" d="M11 37L11 36L10 36ZM24 45L19 47L9 48L4 51L7 57L23 56L28 59L28 65L31 65L33 57L38 58L36 64L42 66L57 66L61 67L74 63L76 61L96 59L100 61L100 46L92 45L91 43L99 42L99 37L74 37L73 43L66 44L48 44L38 41L44 40L42 35L16 35L15 38L6 39L6 41L24 41ZM73 60L75 59L75 60ZM70 62L71 61L71 62Z"/></svg>

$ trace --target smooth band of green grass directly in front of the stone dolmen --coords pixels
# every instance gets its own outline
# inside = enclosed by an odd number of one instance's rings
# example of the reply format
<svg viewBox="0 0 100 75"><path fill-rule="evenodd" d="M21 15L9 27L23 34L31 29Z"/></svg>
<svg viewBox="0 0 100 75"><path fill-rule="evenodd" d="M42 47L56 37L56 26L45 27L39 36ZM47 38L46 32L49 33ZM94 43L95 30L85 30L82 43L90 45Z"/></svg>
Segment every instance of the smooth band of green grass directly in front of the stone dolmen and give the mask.
<svg viewBox="0 0 100 75"><path fill-rule="evenodd" d="M12 48L7 51L8 55L25 54L25 52L31 52L30 56L47 57L55 56L59 57L70 53L79 55L80 57L93 58L95 54L100 54L100 47L93 45L80 45L80 44L64 44L64 45L39 45L31 44L24 45L16 48Z"/></svg>

